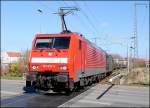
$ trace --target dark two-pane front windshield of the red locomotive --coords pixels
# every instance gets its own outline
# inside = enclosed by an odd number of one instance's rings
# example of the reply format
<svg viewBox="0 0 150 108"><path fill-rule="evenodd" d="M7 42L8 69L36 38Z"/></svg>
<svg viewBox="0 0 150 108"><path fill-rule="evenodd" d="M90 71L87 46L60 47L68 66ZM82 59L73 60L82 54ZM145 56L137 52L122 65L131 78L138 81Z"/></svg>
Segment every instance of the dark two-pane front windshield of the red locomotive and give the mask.
<svg viewBox="0 0 150 108"><path fill-rule="evenodd" d="M36 49L68 49L70 37L50 37L37 38L35 42Z"/></svg>

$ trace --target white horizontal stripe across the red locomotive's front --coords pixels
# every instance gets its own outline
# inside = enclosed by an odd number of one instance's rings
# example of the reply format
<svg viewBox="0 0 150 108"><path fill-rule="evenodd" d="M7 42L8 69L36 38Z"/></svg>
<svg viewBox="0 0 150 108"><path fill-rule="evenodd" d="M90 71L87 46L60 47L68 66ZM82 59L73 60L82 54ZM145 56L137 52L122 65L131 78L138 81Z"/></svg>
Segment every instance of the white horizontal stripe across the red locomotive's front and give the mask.
<svg viewBox="0 0 150 108"><path fill-rule="evenodd" d="M68 58L32 58L31 63L68 63Z"/></svg>

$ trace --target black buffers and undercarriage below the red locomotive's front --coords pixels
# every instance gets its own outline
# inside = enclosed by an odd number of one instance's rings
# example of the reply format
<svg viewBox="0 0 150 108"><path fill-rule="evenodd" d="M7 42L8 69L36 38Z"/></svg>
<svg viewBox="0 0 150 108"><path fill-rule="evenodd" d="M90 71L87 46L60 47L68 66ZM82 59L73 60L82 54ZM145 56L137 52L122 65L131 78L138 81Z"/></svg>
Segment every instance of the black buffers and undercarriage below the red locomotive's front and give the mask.
<svg viewBox="0 0 150 108"><path fill-rule="evenodd" d="M26 86L33 86L35 89L40 90L54 90L61 89L65 90L67 88L73 89L74 83L71 79L69 79L69 75L67 72L42 72L42 73L34 73L27 76Z"/></svg>

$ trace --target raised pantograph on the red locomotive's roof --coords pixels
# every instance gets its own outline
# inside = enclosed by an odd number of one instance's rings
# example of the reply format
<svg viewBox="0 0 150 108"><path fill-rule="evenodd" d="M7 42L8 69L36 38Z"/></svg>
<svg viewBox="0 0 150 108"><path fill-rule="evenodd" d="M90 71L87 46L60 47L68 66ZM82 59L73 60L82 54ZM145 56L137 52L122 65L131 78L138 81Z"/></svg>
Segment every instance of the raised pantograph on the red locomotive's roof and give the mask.
<svg viewBox="0 0 150 108"><path fill-rule="evenodd" d="M62 33L70 33L71 31L67 29L67 25L65 23L65 16L68 14L73 13L73 11L79 11L78 8L76 7L60 7L58 10L58 13L54 13L54 14L58 14L61 18L61 23L62 23Z"/></svg>

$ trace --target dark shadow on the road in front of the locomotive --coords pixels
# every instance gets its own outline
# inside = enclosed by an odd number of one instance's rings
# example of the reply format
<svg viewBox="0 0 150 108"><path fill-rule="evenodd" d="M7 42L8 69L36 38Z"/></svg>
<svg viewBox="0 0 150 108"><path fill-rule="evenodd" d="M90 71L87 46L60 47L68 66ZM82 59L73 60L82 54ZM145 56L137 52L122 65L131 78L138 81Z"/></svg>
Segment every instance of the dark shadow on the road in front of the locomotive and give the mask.
<svg viewBox="0 0 150 108"><path fill-rule="evenodd" d="M57 107L68 100L80 95L81 93L89 90L91 87L95 86L95 84L91 86L87 86L84 89L79 89L71 92L70 94L65 93L57 93L57 92L23 92L19 96L13 96L9 99L4 99L1 101L2 106L5 107L45 107L45 106L51 106L51 107Z"/></svg>

